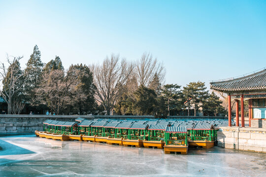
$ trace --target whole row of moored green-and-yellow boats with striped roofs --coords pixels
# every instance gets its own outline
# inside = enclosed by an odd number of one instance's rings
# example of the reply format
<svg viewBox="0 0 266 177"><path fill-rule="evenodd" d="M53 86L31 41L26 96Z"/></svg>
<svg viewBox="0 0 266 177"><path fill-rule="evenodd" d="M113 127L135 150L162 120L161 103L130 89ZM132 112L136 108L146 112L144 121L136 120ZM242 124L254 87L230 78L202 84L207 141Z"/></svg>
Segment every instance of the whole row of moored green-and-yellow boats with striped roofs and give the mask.
<svg viewBox="0 0 266 177"><path fill-rule="evenodd" d="M212 148L223 119L93 119L74 122L47 119L35 135L61 141L84 141L109 145L164 148L165 153L187 154L188 147Z"/></svg>

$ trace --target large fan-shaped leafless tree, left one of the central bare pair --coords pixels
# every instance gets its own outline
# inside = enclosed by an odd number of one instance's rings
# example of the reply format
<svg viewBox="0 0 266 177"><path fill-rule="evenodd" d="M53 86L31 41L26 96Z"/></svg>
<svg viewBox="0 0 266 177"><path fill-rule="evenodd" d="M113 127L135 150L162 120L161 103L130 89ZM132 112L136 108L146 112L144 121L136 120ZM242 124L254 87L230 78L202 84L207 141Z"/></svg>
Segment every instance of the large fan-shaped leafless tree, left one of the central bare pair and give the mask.
<svg viewBox="0 0 266 177"><path fill-rule="evenodd" d="M102 65L91 66L96 100L103 105L107 115L110 115L110 111L114 108L120 89L133 73L133 68L133 63L128 63L126 59L120 61L119 55L114 54L110 58L106 57Z"/></svg>

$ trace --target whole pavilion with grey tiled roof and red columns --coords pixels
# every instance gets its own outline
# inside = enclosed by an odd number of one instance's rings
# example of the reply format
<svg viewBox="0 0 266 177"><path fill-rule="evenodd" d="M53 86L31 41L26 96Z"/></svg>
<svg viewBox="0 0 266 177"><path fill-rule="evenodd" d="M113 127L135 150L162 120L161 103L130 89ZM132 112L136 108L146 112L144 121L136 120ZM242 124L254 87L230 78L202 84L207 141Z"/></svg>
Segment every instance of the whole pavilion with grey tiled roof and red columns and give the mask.
<svg viewBox="0 0 266 177"><path fill-rule="evenodd" d="M266 120L266 68L252 74L210 83L210 89L228 94L228 120L232 126L231 99L235 101L236 126L239 126L240 101L241 124L244 127L244 99L248 100L249 126L252 120Z"/></svg>

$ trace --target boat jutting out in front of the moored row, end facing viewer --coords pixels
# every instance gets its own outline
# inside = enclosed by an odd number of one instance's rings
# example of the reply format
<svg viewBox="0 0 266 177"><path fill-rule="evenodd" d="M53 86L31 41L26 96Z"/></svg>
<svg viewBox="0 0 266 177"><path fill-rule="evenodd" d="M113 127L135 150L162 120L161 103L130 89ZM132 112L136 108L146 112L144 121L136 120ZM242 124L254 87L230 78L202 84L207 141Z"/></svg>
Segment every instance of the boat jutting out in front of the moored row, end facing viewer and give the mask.
<svg viewBox="0 0 266 177"><path fill-rule="evenodd" d="M166 145L164 146L165 153L180 152L181 154L188 153L188 140L186 127L166 127Z"/></svg>

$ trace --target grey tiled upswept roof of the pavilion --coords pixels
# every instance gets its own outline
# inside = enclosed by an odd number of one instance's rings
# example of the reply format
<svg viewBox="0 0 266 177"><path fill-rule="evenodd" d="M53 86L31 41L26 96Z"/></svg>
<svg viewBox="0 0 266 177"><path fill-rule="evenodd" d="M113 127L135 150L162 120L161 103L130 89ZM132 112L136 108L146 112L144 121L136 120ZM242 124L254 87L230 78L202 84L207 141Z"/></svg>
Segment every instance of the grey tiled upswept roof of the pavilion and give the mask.
<svg viewBox="0 0 266 177"><path fill-rule="evenodd" d="M229 92L266 90L266 68L246 76L211 82L210 89Z"/></svg>

